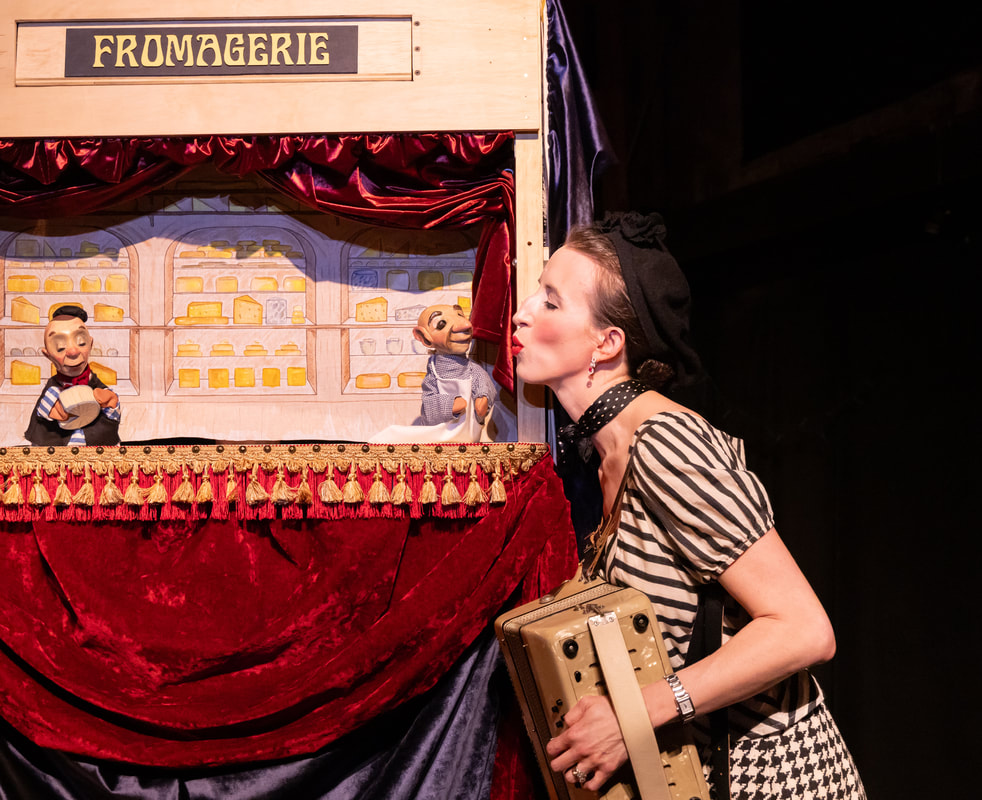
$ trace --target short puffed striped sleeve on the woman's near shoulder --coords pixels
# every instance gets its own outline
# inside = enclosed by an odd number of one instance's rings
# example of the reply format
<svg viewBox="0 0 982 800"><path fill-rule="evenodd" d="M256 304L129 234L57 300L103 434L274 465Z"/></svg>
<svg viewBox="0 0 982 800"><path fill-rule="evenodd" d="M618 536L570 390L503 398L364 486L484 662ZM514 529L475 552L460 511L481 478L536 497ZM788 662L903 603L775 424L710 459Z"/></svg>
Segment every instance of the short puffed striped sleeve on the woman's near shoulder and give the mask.
<svg viewBox="0 0 982 800"><path fill-rule="evenodd" d="M645 512L700 581L719 576L774 526L743 442L701 417L653 417L639 431L631 469Z"/></svg>

